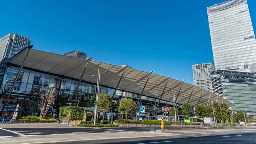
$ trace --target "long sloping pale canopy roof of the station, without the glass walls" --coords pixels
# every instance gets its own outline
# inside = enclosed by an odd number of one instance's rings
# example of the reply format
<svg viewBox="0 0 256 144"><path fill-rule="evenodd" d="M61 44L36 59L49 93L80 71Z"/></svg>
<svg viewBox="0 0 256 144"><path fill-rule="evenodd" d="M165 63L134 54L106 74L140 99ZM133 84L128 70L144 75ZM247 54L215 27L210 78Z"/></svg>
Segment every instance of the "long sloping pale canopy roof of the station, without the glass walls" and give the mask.
<svg viewBox="0 0 256 144"><path fill-rule="evenodd" d="M14 57L12 57L12 59L10 59L8 63L19 67L23 59L25 58L25 55L27 52L28 52L28 48L24 49L23 51L19 52ZM70 57L70 56L55 54L51 52L44 52L44 51L31 49L28 54L27 60L24 64L24 68L35 69L42 72L47 72L47 73L70 77L70 78L79 80L79 78L83 73L86 63L87 63L86 59L80 59L76 57ZM82 81L96 84L97 77L96 76L92 77L92 75L97 74L98 69L101 72L104 72L106 70L109 71L108 73L105 73L104 75L100 76L100 84L102 86L115 89L124 71L124 67L91 60L88 64L88 67L85 71ZM147 81L148 76L149 76L148 72L126 68L124 72L124 76L118 86L118 89L140 94L144 84ZM155 75L155 74L150 75L148 83L143 91L143 95L153 97L153 98L159 98L163 92L164 86L167 81L168 81L168 84L164 91L165 93L162 96L162 100L173 101L172 89L175 92L175 97L177 97L181 84L183 82L172 79L172 78ZM180 104L188 102L192 89L193 89L193 85L187 84L184 82L182 84L181 92L179 93L179 96L176 102ZM166 93L166 92L169 92L169 93ZM223 103L232 105L230 102L228 102L228 100L225 100L214 93L211 93L207 90L203 90L202 88L199 88L196 86L194 87L194 90L191 94L189 103L192 106L196 104L207 105L209 97L213 101L217 100L218 103L223 102Z"/></svg>

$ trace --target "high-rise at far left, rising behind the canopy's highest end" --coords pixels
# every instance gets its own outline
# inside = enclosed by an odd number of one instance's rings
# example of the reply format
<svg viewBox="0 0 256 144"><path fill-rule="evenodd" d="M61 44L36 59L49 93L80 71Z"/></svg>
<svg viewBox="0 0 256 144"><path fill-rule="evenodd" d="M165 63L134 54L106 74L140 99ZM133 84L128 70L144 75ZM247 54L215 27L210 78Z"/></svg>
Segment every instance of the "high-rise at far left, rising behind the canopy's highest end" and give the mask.
<svg viewBox="0 0 256 144"><path fill-rule="evenodd" d="M0 60L11 58L30 45L30 40L18 34L8 34L0 39Z"/></svg>

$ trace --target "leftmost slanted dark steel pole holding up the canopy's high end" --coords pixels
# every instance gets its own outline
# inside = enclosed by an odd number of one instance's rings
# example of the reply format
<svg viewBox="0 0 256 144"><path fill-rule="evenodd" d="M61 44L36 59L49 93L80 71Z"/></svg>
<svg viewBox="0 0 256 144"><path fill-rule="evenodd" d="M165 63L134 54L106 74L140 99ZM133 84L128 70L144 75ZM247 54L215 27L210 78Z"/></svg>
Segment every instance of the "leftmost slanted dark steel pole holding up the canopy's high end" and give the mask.
<svg viewBox="0 0 256 144"><path fill-rule="evenodd" d="M27 46L27 47L25 48L25 49L28 48L28 52L27 52L27 54L26 54L26 56L25 56L23 62L21 63L21 66L20 66L20 69L19 69L19 71L18 71L18 74L17 74L17 76L15 77L14 83L12 84L12 88L11 88L11 90L10 90L10 92L9 92L9 94L8 94L8 97L7 97L7 99L6 99L5 103L4 103L4 106L3 106L3 108L2 108L2 110L1 110L1 112L0 112L0 116L2 116L2 114L3 114L3 112L4 112L4 108L5 108L6 104L8 103L8 100L9 100L11 94L12 94L13 88L14 88L16 82L18 81L18 77L20 76L20 72L21 72L21 70L23 69L24 63L25 63L25 61L26 61L27 58L28 58L28 53L30 52L30 50L32 49L32 47L33 47L33 45L29 45L29 46Z"/></svg>

